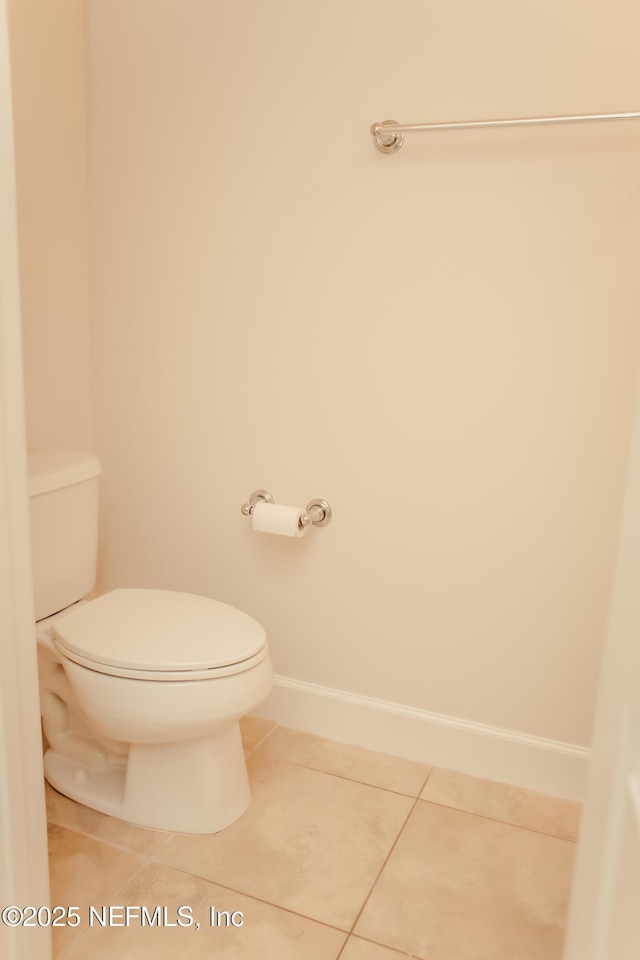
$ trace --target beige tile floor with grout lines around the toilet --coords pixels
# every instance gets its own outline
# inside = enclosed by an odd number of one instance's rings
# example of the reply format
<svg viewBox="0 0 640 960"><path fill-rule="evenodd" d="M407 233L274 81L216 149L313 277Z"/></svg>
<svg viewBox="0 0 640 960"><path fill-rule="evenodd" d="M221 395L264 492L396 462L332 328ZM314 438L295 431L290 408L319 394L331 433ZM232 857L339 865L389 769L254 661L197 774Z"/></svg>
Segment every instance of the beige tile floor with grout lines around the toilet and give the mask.
<svg viewBox="0 0 640 960"><path fill-rule="evenodd" d="M216 835L47 787L52 904L82 918L53 931L56 960L560 960L577 804L266 720L242 732L253 800ZM165 925L143 924L156 906Z"/></svg>

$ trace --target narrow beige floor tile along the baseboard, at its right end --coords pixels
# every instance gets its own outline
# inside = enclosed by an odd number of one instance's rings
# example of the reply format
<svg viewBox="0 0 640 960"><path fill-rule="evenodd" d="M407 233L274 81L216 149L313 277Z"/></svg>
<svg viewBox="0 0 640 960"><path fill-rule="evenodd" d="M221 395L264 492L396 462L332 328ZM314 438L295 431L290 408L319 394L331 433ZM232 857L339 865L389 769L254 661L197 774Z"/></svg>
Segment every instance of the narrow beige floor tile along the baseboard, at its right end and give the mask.
<svg viewBox="0 0 640 960"><path fill-rule="evenodd" d="M423 800L504 820L554 837L575 840L578 835L579 803L481 780L453 770L433 770L420 796Z"/></svg>

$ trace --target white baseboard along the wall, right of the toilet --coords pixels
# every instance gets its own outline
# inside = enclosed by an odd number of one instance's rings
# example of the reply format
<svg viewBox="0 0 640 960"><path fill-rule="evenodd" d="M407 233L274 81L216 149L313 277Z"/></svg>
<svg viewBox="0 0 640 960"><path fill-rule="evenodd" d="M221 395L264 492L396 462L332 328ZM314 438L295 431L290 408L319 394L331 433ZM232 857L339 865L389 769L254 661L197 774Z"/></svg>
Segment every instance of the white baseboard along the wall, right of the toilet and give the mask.
<svg viewBox="0 0 640 960"><path fill-rule="evenodd" d="M274 677L273 690L257 713L342 743L568 800L584 798L590 755L586 747L290 677Z"/></svg>

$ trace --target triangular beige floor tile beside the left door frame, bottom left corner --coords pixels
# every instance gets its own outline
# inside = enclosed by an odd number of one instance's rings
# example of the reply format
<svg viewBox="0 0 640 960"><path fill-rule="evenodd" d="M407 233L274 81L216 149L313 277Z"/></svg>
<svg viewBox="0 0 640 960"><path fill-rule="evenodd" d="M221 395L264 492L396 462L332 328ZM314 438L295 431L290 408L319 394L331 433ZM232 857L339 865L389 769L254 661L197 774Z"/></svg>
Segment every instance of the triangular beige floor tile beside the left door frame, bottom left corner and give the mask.
<svg viewBox="0 0 640 960"><path fill-rule="evenodd" d="M90 906L109 903L144 862L140 854L50 824L51 906L77 907L81 918L78 927L53 929L54 951L80 934Z"/></svg>

